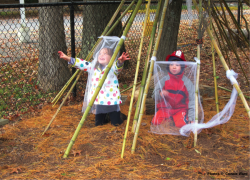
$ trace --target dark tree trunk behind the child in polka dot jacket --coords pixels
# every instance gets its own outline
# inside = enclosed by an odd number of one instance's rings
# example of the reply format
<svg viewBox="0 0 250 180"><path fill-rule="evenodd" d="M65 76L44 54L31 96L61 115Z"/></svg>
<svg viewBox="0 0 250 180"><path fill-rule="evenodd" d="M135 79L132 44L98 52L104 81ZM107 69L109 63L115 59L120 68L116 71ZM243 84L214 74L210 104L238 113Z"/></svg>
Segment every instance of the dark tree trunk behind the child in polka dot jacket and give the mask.
<svg viewBox="0 0 250 180"><path fill-rule="evenodd" d="M105 27L108 25L108 22L110 21L118 6L119 4L94 4L84 6L82 50L79 57L83 59L87 57L90 50L95 45L98 37L101 36ZM119 18L119 14L117 15L117 18ZM122 35L121 33L122 24L119 23L119 25L109 36L120 37ZM121 52L122 51L124 50L121 50Z"/></svg>

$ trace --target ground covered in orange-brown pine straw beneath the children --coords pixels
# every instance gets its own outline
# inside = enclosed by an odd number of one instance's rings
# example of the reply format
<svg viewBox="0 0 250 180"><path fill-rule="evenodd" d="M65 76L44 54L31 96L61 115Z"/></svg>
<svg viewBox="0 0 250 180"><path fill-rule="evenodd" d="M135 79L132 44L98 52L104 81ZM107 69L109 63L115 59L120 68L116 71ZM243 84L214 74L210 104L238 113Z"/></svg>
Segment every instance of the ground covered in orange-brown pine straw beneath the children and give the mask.
<svg viewBox="0 0 250 180"><path fill-rule="evenodd" d="M220 97L229 92L219 90ZM130 100L130 98L128 97ZM216 114L215 102L203 97L205 121ZM128 100L128 101L129 101ZM220 108L228 99L220 99ZM249 103L249 100L247 100ZM129 102L121 106L128 113ZM198 145L193 137L149 132L153 115L144 115L135 154L131 128L124 158L121 148L126 121L114 127L84 123L68 158L62 158L82 117L81 103L64 106L51 128L41 136L57 107L27 114L1 128L1 179L249 179L250 126L237 100L234 115L224 125L203 130ZM132 116L133 117L133 116ZM132 124L132 123L130 123Z"/></svg>

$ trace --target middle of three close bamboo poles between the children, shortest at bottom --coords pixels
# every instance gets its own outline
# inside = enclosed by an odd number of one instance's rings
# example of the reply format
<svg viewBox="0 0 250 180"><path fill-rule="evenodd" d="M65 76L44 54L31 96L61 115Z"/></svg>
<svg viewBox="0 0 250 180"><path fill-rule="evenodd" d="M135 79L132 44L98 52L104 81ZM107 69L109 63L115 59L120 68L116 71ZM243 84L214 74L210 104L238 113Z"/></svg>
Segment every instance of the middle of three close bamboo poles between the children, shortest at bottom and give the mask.
<svg viewBox="0 0 250 180"><path fill-rule="evenodd" d="M160 13L160 7L161 7L161 3L162 1L160 0L158 2L158 6L157 6L157 11L155 14L155 20L154 20L154 24L153 24L153 28L152 28L152 32L151 32L151 37L150 37L150 42L149 42L149 47L148 47L148 51L147 51L147 59L144 65L144 70L143 70L143 74L142 74L142 83L140 86L140 90L139 90L139 95L138 95L138 99L137 99L137 103L136 103L136 109L135 109L135 115L134 115L134 120L133 120L133 126L132 126L132 132L135 132L135 127L138 121L138 116L139 116L139 112L140 112L140 108L141 108L141 100L142 100L142 95L143 95L143 91L145 88L145 82L146 82L146 78L147 78L147 74L148 74L148 65L149 65L149 60L151 57L151 51L152 51L152 47L153 47L153 43L154 43L154 38L155 38L155 32L157 29L157 22L159 19L159 13Z"/></svg>

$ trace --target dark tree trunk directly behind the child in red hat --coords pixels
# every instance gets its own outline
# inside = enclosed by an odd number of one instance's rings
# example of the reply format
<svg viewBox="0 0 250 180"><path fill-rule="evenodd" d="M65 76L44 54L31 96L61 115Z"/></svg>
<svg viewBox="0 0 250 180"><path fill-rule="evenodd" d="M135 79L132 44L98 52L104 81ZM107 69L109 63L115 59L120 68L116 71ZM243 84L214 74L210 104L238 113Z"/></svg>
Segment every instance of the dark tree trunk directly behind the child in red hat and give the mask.
<svg viewBox="0 0 250 180"><path fill-rule="evenodd" d="M173 0L168 5L162 36L157 51L158 61L165 61L167 55L172 54L172 52L176 51L181 9L182 0Z"/></svg>

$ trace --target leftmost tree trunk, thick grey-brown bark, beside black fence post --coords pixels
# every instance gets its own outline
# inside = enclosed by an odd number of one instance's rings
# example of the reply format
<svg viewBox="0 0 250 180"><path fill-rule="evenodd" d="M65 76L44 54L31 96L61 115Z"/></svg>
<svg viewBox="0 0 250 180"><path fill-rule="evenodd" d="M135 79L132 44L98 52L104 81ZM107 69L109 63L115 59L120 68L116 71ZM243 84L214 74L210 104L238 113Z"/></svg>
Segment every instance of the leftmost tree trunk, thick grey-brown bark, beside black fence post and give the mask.
<svg viewBox="0 0 250 180"><path fill-rule="evenodd" d="M39 0L39 3L61 0ZM70 78L68 64L58 56L67 53L64 34L63 7L39 8L39 87L45 91L59 90Z"/></svg>

